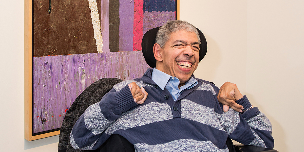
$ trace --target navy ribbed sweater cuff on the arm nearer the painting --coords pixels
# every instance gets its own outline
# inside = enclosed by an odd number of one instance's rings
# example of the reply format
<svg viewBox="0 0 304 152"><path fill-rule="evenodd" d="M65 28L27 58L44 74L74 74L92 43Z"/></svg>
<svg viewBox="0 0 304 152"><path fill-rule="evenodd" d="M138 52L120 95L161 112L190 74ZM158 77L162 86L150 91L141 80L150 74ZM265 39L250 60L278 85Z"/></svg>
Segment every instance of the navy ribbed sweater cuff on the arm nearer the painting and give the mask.
<svg viewBox="0 0 304 152"><path fill-rule="evenodd" d="M134 102L132 93L128 85L123 87L119 92L115 92L114 95L121 112L126 112L130 108L138 105L136 102Z"/></svg>

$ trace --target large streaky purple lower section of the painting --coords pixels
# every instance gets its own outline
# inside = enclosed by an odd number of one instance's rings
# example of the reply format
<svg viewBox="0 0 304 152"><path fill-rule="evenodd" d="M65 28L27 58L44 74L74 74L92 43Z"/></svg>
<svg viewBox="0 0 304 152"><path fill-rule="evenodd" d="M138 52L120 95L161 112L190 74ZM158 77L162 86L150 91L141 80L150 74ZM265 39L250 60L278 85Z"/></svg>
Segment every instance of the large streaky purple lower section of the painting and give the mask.
<svg viewBox="0 0 304 152"><path fill-rule="evenodd" d="M34 133L61 127L66 109L101 78L139 78L149 67L141 51L34 57Z"/></svg>

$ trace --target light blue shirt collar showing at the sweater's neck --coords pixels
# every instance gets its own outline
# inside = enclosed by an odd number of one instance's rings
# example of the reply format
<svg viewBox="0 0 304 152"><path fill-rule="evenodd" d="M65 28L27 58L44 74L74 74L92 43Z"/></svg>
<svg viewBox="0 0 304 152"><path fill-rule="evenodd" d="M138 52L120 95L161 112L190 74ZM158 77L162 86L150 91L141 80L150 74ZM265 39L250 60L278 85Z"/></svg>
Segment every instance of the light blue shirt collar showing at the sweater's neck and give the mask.
<svg viewBox="0 0 304 152"><path fill-rule="evenodd" d="M179 79L172 77L169 74L166 74L162 71L157 70L156 68L152 71L152 80L162 89L166 88L173 97L174 101L181 95L185 89L190 89L198 84L195 78L190 77L190 79L178 89Z"/></svg>

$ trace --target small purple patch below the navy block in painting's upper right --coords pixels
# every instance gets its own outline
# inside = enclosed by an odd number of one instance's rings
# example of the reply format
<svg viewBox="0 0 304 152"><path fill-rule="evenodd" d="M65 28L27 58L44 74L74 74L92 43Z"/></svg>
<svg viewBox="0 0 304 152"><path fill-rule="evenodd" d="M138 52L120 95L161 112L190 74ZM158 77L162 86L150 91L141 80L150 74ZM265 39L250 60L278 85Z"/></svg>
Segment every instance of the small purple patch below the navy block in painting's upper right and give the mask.
<svg viewBox="0 0 304 152"><path fill-rule="evenodd" d="M150 29L164 25L170 20L175 20L175 12L152 11L143 13L143 35Z"/></svg>

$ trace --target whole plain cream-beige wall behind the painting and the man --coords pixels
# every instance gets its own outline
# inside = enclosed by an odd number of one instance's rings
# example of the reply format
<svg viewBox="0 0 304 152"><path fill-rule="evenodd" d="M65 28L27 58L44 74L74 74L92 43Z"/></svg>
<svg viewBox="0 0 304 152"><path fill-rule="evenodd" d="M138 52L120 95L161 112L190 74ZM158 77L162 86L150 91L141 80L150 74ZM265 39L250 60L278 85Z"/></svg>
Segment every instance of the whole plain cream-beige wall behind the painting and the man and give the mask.
<svg viewBox="0 0 304 152"><path fill-rule="evenodd" d="M195 76L236 83L273 124L275 149L302 151L302 0L180 0L180 18L205 34ZM57 151L58 136L24 140L24 1L0 5L1 151Z"/></svg>

